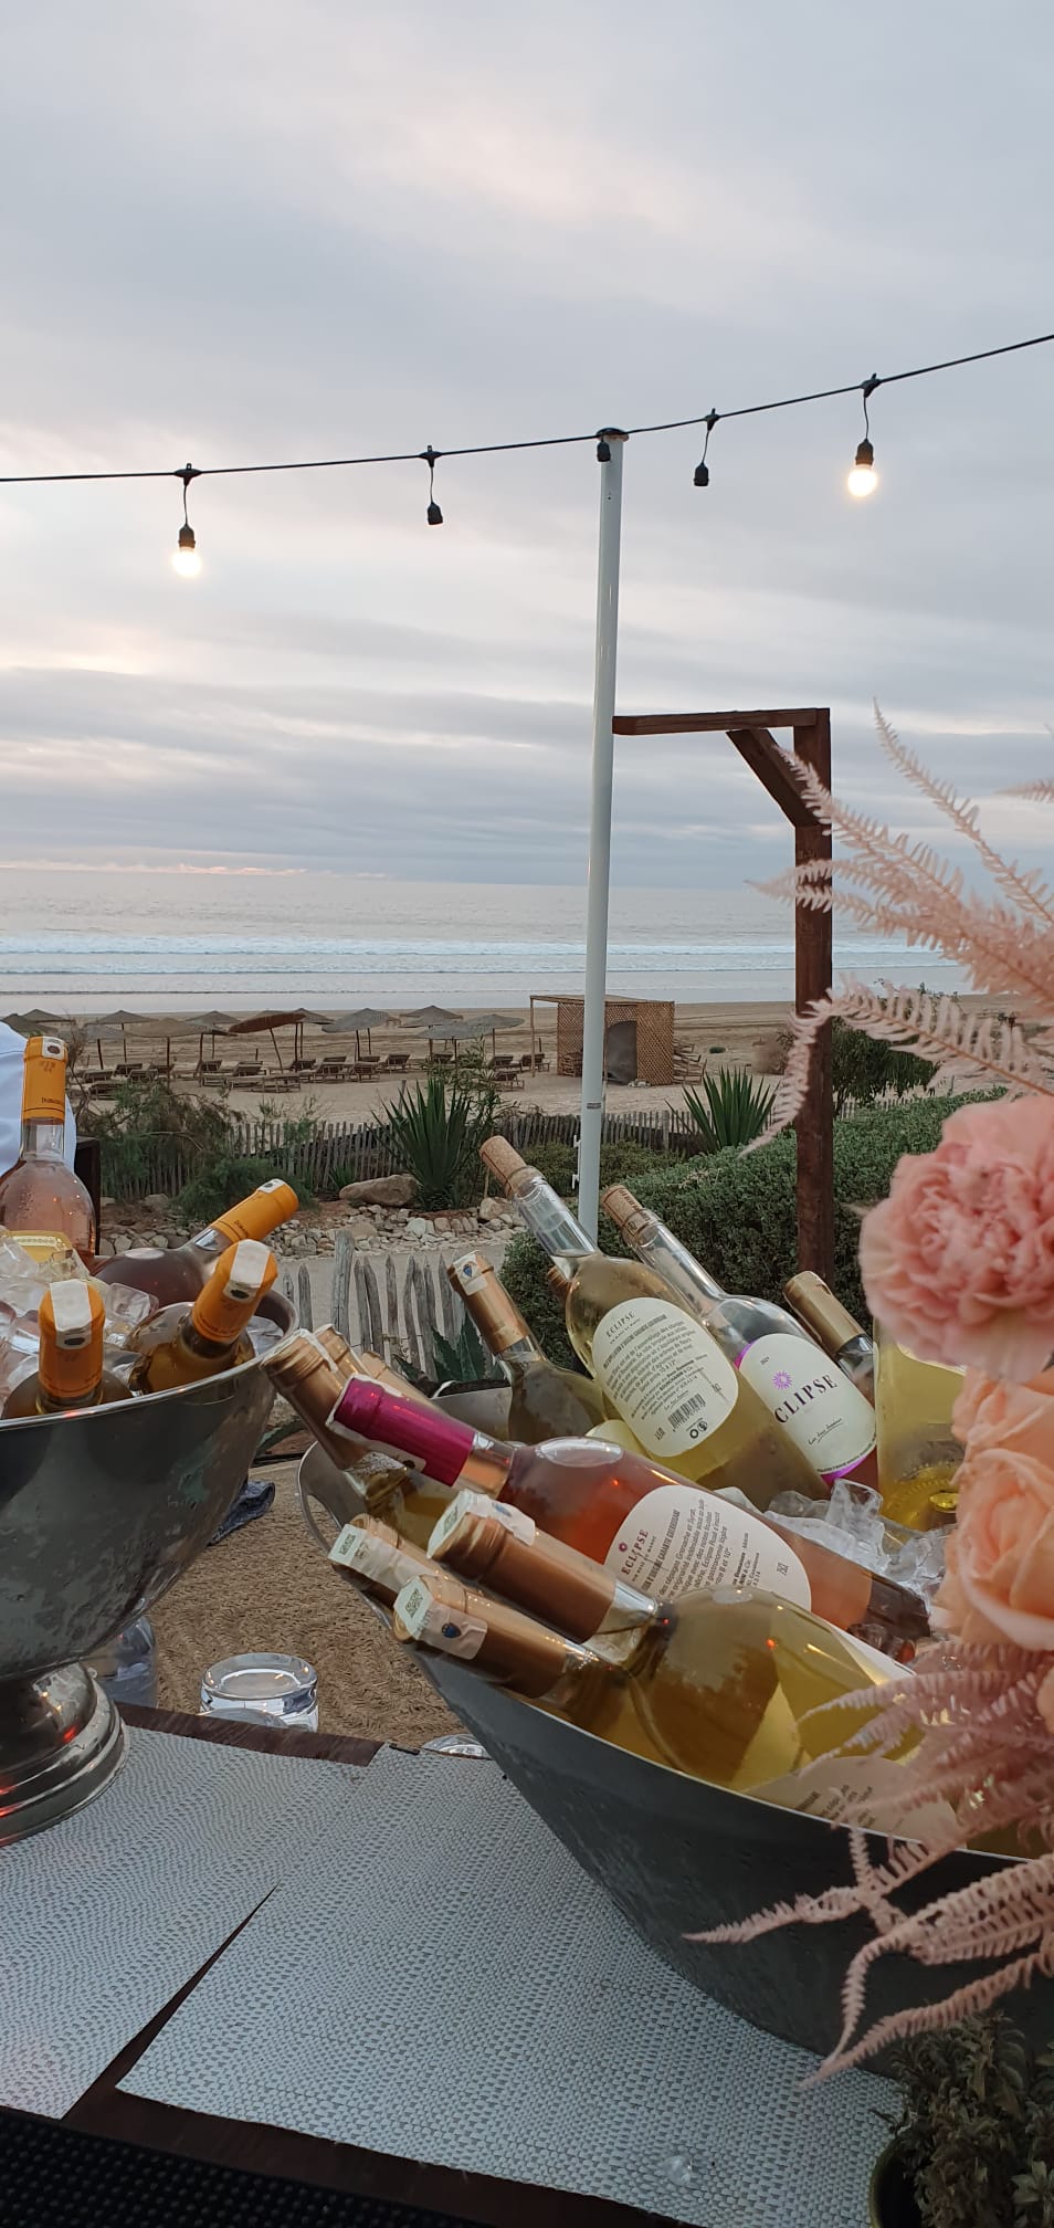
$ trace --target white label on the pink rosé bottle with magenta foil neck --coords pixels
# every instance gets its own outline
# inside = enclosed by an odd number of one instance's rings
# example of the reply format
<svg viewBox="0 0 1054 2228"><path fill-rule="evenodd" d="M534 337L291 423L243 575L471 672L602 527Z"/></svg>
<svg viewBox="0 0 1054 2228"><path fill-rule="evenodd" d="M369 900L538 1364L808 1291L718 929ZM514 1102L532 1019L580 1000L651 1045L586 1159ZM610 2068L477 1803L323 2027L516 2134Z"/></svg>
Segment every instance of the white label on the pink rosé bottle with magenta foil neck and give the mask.
<svg viewBox="0 0 1054 2228"><path fill-rule="evenodd" d="M811 1609L809 1577L793 1546L746 1511L689 1484L646 1493L615 1533L604 1566L660 1600L744 1586Z"/></svg>

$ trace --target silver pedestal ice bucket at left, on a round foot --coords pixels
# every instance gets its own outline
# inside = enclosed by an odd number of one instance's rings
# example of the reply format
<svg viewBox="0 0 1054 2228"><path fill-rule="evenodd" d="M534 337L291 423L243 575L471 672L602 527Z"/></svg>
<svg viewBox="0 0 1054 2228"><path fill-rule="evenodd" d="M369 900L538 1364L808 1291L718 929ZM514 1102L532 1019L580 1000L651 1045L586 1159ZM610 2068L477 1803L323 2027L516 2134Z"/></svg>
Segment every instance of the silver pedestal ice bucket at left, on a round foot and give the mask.
<svg viewBox="0 0 1054 2228"><path fill-rule="evenodd" d="M267 1294L285 1330L294 1312ZM236 1499L274 1390L203 1386L0 1430L0 1845L80 1809L125 1756L85 1669L185 1571Z"/></svg>

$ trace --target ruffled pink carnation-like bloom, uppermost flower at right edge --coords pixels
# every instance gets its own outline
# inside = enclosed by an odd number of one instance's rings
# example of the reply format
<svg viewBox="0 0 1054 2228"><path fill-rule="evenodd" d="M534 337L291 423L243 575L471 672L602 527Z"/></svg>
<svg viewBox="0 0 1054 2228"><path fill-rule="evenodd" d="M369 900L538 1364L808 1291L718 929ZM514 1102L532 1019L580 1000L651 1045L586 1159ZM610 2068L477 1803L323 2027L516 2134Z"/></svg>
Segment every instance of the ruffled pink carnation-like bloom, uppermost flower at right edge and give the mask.
<svg viewBox="0 0 1054 2228"><path fill-rule="evenodd" d="M1054 1352L1054 1098L958 1107L865 1214L871 1312L923 1361L1036 1377Z"/></svg>

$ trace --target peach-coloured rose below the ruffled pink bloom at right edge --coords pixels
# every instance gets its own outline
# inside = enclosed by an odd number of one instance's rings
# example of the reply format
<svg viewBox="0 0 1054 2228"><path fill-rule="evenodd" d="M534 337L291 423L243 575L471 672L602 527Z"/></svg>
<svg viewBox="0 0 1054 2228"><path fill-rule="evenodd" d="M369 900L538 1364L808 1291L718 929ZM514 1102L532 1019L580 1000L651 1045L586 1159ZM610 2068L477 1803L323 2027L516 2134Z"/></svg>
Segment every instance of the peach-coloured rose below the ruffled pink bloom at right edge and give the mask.
<svg viewBox="0 0 1054 2228"><path fill-rule="evenodd" d="M1054 1653L1054 1446L1047 1455L967 1450L934 1602L938 1629Z"/></svg>

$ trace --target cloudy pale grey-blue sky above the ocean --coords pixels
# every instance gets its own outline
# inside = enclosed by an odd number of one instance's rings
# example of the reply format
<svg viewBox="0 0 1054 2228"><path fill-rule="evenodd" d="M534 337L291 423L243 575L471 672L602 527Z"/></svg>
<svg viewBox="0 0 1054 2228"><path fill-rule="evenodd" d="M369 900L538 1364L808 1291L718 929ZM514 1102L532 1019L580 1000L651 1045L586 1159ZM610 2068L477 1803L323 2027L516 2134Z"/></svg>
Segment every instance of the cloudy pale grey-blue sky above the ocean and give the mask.
<svg viewBox="0 0 1054 2228"><path fill-rule="evenodd" d="M862 381L1054 328L1045 0L47 0L4 25L0 472L419 450ZM1054 348L626 450L619 711L871 700L1050 773ZM577 885L593 446L0 488L0 858ZM987 829L1041 856L1032 807ZM619 742L615 880L787 833L724 737ZM2 902L2 900L0 900Z"/></svg>

